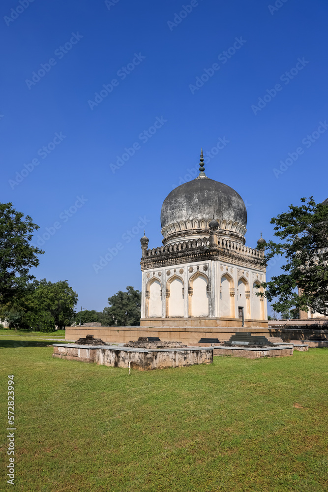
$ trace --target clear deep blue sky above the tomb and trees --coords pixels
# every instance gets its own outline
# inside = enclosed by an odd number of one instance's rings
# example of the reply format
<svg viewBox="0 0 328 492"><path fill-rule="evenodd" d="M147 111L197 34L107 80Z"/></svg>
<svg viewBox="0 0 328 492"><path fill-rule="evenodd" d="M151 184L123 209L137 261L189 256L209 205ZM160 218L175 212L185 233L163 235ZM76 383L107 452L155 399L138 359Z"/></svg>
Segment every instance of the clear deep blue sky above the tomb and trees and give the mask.
<svg viewBox="0 0 328 492"><path fill-rule="evenodd" d="M160 246L164 198L219 138L206 172L245 201L248 246L328 197L327 1L21 2L1 3L1 201L40 226L33 273L78 309L141 288L140 217Z"/></svg>

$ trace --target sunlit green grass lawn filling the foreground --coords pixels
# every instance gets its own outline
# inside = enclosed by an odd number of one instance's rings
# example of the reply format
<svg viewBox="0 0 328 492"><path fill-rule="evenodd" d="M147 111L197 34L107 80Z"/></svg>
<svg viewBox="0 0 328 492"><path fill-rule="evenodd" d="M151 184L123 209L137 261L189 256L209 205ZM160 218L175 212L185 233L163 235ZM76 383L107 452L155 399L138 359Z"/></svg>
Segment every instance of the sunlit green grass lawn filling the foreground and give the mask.
<svg viewBox="0 0 328 492"><path fill-rule="evenodd" d="M16 491L328 490L327 349L130 376L52 351L0 349L3 430L15 375Z"/></svg>

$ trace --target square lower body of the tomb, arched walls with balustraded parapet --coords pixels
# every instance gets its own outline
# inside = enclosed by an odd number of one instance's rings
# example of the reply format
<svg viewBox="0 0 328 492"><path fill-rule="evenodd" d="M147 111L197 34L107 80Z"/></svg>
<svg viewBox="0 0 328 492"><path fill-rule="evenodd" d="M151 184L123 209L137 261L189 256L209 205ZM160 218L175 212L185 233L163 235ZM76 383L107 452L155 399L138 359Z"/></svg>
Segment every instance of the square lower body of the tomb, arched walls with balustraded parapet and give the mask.
<svg viewBox="0 0 328 492"><path fill-rule="evenodd" d="M143 248L142 326L196 318L203 326L242 325L241 308L244 326L268 325L267 301L255 287L266 278L263 253L222 238L211 243L209 236Z"/></svg>

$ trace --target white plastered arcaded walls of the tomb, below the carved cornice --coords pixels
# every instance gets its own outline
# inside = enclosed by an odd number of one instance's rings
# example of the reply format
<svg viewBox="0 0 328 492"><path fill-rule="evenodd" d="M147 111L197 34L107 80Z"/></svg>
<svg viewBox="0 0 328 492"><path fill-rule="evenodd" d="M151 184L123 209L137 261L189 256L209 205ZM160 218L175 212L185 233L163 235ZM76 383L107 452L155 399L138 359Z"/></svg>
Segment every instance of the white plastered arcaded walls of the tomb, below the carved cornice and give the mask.
<svg viewBox="0 0 328 492"><path fill-rule="evenodd" d="M197 273L200 275L197 276ZM239 306L244 307L245 319L268 318L267 300L258 301L255 299L255 297L258 297L255 296L255 292L258 292L258 289L254 288L254 283L256 281L265 281L265 273L260 270L221 262L220 260L208 260L149 269L143 271L142 276L142 318L147 317L146 287L153 278L161 282L162 318L187 318L204 315L208 311L209 317L238 319ZM221 291L221 280L224 276L225 278L229 278L229 281L227 280L227 284L223 285L223 290ZM174 280L169 282L173 277ZM208 292L206 292L206 278L208 279ZM240 286L239 292L238 284L240 278L243 278L244 281ZM193 285L191 286L191 284ZM150 299L147 302L149 303L149 301ZM229 302L230 315L228 314L229 309L227 308L227 306L229 307ZM259 308L257 305L254 305L254 302L262 304L260 318L256 317ZM156 312L159 313L159 308Z"/></svg>

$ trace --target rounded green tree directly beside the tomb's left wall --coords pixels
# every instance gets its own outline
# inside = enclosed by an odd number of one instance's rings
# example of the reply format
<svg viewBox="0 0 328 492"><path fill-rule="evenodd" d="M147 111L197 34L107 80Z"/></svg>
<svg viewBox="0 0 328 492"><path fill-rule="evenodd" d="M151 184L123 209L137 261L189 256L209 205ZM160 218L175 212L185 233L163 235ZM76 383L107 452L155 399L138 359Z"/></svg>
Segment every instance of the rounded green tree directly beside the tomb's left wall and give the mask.
<svg viewBox="0 0 328 492"><path fill-rule="evenodd" d="M110 307L103 310L103 319L108 320L107 326L139 326L141 316L141 292L131 285L126 292L119 290L117 294L108 298Z"/></svg>

